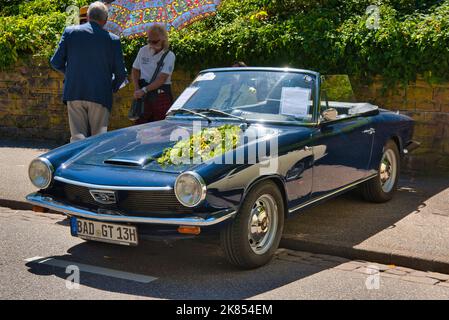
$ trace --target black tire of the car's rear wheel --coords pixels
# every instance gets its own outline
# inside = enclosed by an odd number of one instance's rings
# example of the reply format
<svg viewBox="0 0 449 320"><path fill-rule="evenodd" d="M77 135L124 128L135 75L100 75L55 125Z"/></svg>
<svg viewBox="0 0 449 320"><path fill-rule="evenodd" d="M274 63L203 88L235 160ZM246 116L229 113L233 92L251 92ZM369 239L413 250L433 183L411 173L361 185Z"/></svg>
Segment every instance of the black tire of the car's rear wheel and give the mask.
<svg viewBox="0 0 449 320"><path fill-rule="evenodd" d="M394 155L394 160L392 160L391 166L395 166L394 173L392 174L392 180L388 181L388 188L384 190L383 182L382 182L382 163L384 158L389 154L389 157ZM388 161L388 160L387 160ZM360 186L360 191L362 193L363 198L366 201L382 203L387 202L393 198L394 193L396 192L398 181L399 181L399 173L401 170L401 161L399 150L396 143L392 140L387 141L383 150L382 150L382 158L379 164L379 169L376 177L365 182ZM386 183L385 183L386 184Z"/></svg>

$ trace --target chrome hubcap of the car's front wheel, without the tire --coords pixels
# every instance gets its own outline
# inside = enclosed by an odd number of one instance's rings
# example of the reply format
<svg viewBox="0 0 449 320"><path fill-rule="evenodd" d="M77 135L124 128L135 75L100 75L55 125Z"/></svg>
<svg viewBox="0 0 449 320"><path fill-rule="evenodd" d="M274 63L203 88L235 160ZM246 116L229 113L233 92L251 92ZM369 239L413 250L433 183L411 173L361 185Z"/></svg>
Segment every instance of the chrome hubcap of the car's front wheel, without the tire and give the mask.
<svg viewBox="0 0 449 320"><path fill-rule="evenodd" d="M273 245L278 226L277 206L269 194L254 203L248 222L248 242L256 254L266 253Z"/></svg>

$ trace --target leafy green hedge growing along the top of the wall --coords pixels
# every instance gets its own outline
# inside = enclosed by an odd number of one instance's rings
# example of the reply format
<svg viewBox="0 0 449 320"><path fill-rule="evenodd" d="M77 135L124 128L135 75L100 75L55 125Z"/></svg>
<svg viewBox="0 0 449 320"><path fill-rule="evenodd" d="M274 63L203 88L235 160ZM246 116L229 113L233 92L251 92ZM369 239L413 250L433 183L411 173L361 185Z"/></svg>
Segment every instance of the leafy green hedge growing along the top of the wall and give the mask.
<svg viewBox="0 0 449 320"><path fill-rule="evenodd" d="M7 1L12 4L0 10L0 67L29 54L50 56L64 28L64 8L88 3ZM371 4L380 8L378 29L366 27ZM391 83L417 74L440 81L449 78L448 26L449 0L224 0L215 17L173 31L170 39L183 69L243 60L325 74L382 75ZM143 38L123 39L128 67L144 44Z"/></svg>

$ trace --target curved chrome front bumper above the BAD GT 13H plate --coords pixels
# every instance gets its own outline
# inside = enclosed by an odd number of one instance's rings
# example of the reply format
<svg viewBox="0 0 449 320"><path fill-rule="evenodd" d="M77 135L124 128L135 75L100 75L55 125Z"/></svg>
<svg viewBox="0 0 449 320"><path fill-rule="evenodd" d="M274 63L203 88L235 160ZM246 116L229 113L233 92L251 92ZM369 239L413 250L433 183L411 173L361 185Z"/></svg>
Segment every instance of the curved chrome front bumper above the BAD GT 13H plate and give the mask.
<svg viewBox="0 0 449 320"><path fill-rule="evenodd" d="M236 213L231 209L226 209L211 214L207 218L202 218L199 216L189 218L135 217L135 216L112 215L112 214L99 214L83 208L75 207L71 204L65 203L60 200L55 200L52 197L43 196L37 192L29 194L26 197L26 199L28 200L28 202L34 205L62 212L69 216L82 217L99 221L124 222L124 223L147 223L147 224L161 224L161 225L207 227L230 219Z"/></svg>

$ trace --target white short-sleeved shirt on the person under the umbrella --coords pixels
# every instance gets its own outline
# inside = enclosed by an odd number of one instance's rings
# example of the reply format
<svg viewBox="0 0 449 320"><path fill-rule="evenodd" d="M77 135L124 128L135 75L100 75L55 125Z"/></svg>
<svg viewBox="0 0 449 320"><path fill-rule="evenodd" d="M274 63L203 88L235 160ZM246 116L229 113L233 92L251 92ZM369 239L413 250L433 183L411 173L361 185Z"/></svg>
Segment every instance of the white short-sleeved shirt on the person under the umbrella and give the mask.
<svg viewBox="0 0 449 320"><path fill-rule="evenodd" d="M154 50L150 49L149 45L140 48L136 60L134 60L133 63L133 68L140 70L140 79L150 82L153 77L153 73L156 70L157 63L161 59L164 52L164 50L161 50L159 53L154 54ZM164 59L160 73L168 74L165 84L171 84L171 74L175 68L175 59L175 54L171 51Z"/></svg>

